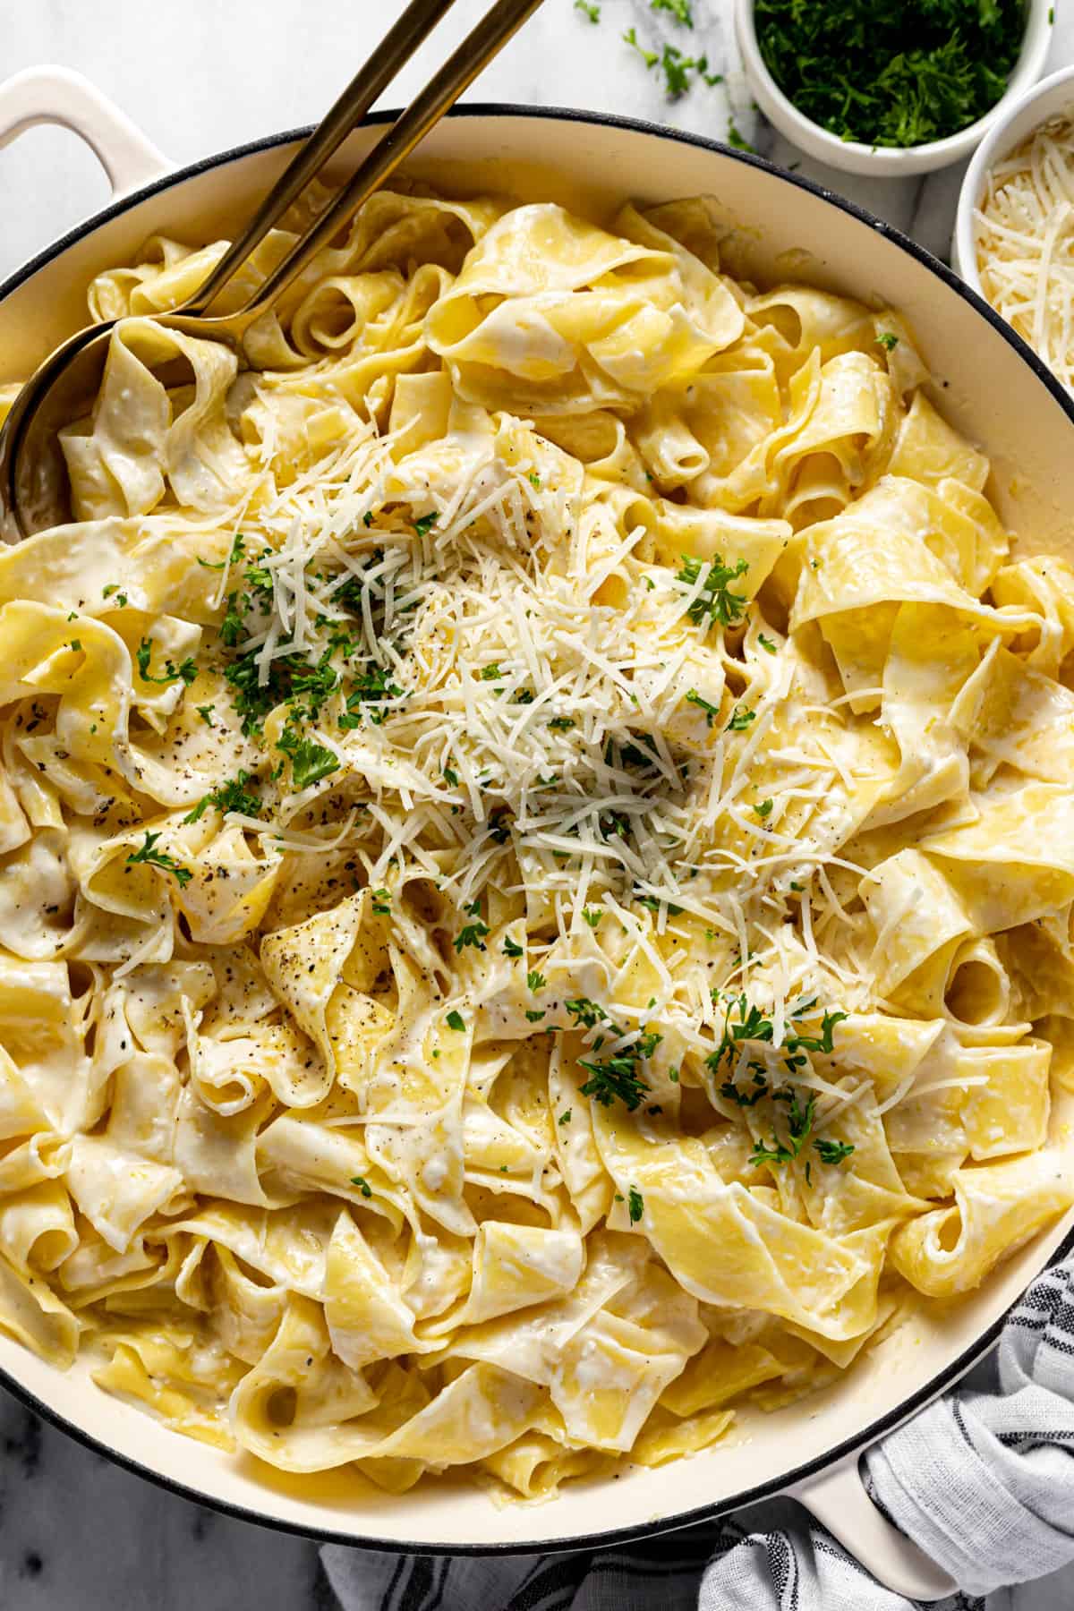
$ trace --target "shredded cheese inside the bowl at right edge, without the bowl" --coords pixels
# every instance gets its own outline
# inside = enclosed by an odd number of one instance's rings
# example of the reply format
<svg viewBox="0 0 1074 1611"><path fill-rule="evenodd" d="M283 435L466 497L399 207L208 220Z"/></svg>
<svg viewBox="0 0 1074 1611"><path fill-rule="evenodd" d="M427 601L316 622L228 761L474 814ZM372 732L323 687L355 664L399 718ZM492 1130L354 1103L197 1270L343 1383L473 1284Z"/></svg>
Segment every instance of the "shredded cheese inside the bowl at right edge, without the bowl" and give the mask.
<svg viewBox="0 0 1074 1611"><path fill-rule="evenodd" d="M1074 121L1043 122L995 163L974 217L984 295L1074 390Z"/></svg>

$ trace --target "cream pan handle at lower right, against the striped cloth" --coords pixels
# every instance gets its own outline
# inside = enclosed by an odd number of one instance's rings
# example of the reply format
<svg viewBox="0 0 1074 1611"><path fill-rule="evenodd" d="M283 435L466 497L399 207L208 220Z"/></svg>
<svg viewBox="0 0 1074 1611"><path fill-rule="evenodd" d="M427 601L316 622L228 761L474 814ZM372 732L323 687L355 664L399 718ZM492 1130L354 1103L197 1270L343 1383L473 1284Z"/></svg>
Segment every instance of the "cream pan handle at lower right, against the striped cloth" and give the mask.
<svg viewBox="0 0 1074 1611"><path fill-rule="evenodd" d="M795 1482L787 1493L894 1593L908 1600L944 1600L958 1593L955 1579L876 1508L861 1481L858 1455L847 1455L815 1477Z"/></svg>

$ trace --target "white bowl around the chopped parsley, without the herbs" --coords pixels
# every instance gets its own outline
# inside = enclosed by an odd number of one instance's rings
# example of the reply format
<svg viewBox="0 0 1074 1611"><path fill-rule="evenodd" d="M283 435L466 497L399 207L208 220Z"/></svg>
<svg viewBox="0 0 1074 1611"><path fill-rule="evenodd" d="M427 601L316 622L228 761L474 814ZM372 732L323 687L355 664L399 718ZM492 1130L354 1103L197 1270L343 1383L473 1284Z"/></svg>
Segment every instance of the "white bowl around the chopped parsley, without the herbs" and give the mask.
<svg viewBox="0 0 1074 1611"><path fill-rule="evenodd" d="M927 174L934 168L945 168L948 163L956 163L961 156L969 156L982 135L1005 116L1006 108L1019 100L1040 77L1048 45L1051 43L1053 24L1053 0L1027 0L1022 52L1014 63L1014 71L1005 93L984 118L977 118L976 122L960 129L958 134L948 135L945 140L929 140L926 145L861 145L857 140L841 140L837 134L821 129L818 122L803 116L787 100L760 53L757 29L754 26L754 0L736 0L734 5L734 31L742 53L746 77L757 105L768 121L808 156L815 156L831 168L842 168L847 174L873 174L874 177L887 179Z"/></svg>

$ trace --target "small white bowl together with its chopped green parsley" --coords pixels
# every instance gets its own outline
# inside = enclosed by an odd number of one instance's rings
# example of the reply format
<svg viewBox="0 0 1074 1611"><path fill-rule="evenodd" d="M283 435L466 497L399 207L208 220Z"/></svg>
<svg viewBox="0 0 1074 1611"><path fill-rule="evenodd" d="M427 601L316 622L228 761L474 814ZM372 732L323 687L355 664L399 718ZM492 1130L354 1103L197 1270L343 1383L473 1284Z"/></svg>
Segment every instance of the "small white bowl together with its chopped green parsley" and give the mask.
<svg viewBox="0 0 1074 1611"><path fill-rule="evenodd" d="M968 156L1031 89L1051 0L737 0L758 106L807 155L852 174L924 174Z"/></svg>

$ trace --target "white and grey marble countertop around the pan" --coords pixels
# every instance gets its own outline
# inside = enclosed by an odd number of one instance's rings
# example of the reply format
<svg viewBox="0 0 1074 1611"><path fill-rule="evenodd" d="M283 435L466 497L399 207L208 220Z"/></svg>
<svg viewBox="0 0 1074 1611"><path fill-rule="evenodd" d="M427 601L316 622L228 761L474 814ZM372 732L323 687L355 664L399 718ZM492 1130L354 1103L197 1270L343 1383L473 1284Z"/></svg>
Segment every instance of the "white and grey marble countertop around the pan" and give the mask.
<svg viewBox="0 0 1074 1611"><path fill-rule="evenodd" d="M924 180L868 180L824 169L758 124L737 68L728 0L694 0L683 35L649 0L601 0L589 24L572 0L546 0L472 100L618 111L723 139L728 116L765 155L887 217L947 255L961 168ZM0 74L42 61L77 68L177 163L312 122L338 93L403 0L31 0L0 42ZM454 43L485 10L459 0L438 31ZM667 101L657 76L622 43L707 53L726 84L696 82ZM427 47L386 105L433 66ZM1050 69L1074 60L1074 16L1060 18ZM69 134L34 129L0 151L0 275L108 198L93 156ZM1069 1611L1047 1582L1005 1608ZM216 1516L167 1495L71 1442L0 1390L0 1603L5 1611L316 1611L335 1606L317 1550L301 1539ZM475 1608L480 1611L480 1608Z"/></svg>

